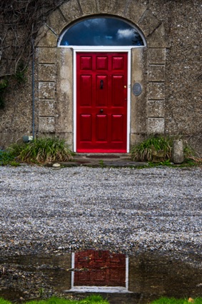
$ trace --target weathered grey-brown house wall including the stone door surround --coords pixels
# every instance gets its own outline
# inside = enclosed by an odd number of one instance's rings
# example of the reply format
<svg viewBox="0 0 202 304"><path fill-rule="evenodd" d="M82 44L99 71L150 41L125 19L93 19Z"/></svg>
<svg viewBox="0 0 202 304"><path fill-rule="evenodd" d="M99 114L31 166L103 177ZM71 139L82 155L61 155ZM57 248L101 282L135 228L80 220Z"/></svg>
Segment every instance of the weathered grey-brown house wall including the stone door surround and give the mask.
<svg viewBox="0 0 202 304"><path fill-rule="evenodd" d="M146 38L146 48L133 49L131 58L131 86L143 88L138 97L131 92L131 144L146 134L181 134L202 152L200 0L71 0L54 11L36 41L36 133L57 134L73 146L73 56L57 40L72 21L94 14L128 19ZM31 125L28 76L0 110L0 146L30 134Z"/></svg>

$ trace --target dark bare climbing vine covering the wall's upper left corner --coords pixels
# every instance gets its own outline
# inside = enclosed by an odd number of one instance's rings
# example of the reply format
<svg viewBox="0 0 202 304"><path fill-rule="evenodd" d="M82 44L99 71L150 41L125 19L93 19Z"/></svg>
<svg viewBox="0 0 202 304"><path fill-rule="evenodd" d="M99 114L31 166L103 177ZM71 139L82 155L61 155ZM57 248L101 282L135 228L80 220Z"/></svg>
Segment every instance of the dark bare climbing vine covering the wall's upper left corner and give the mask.
<svg viewBox="0 0 202 304"><path fill-rule="evenodd" d="M26 69L39 28L65 1L69 0L0 1L0 77L16 74L22 61Z"/></svg>

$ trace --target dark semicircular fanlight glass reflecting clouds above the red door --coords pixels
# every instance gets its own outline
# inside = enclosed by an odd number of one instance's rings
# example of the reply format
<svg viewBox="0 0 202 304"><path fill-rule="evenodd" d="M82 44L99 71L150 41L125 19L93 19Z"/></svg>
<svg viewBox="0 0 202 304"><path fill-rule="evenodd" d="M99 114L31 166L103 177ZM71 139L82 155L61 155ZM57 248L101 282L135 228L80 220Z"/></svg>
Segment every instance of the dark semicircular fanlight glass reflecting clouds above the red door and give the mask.
<svg viewBox="0 0 202 304"><path fill-rule="evenodd" d="M61 46L143 46L130 24L115 18L87 19L66 30Z"/></svg>

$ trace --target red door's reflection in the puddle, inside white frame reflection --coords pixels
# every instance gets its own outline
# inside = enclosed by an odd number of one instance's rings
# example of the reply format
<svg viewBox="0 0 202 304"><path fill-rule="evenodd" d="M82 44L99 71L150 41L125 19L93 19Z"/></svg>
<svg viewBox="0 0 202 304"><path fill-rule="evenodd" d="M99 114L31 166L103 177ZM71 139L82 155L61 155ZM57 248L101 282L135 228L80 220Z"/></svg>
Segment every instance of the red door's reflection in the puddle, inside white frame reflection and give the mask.
<svg viewBox="0 0 202 304"><path fill-rule="evenodd" d="M126 287L126 255L105 250L75 253L74 286Z"/></svg>

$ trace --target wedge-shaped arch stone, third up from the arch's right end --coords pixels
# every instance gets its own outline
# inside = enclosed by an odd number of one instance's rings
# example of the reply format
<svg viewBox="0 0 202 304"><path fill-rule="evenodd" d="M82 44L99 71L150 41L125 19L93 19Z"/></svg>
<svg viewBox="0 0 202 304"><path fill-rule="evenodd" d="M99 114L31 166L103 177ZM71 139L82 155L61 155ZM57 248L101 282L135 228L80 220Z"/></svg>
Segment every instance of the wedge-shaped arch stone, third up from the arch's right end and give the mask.
<svg viewBox="0 0 202 304"><path fill-rule="evenodd" d="M146 6L141 4L139 1L131 1L126 9L126 18L133 20L134 24L138 24L138 21L146 11Z"/></svg>

